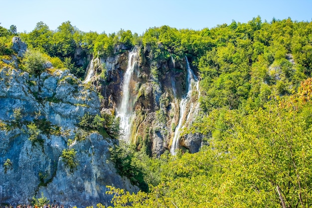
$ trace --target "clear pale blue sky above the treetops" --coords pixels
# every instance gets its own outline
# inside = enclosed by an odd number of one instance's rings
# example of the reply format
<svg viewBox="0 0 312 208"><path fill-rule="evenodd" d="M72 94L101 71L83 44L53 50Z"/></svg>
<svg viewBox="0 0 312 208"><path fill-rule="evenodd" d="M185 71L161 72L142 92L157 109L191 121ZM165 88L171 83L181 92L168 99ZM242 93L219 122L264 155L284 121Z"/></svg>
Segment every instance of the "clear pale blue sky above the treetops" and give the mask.
<svg viewBox="0 0 312 208"><path fill-rule="evenodd" d="M0 25L14 24L18 32L30 32L39 21L55 30L69 20L85 32L142 34L154 26L198 30L258 15L311 21L312 0L0 0Z"/></svg>

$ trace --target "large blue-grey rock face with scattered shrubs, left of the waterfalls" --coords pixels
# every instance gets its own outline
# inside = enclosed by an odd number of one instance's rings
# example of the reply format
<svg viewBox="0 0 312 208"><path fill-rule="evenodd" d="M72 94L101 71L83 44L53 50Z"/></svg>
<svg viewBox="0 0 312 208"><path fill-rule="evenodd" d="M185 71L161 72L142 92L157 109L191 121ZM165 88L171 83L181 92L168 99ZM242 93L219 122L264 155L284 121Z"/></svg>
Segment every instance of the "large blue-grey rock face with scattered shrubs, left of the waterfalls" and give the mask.
<svg viewBox="0 0 312 208"><path fill-rule="evenodd" d="M109 205L107 185L138 191L110 162L111 139L77 127L85 113L100 113L97 92L68 70L39 77L0 70L0 123L5 126L0 128L1 203L28 204L43 193L51 203L82 208ZM37 128L34 141L29 140L34 134L30 124ZM65 149L77 152L76 168L62 158Z"/></svg>

